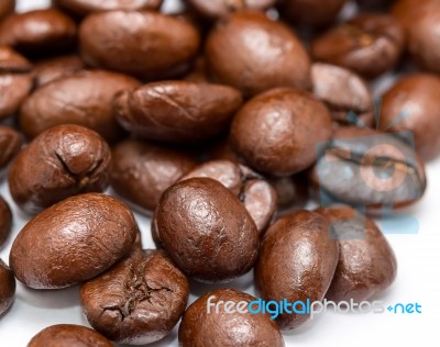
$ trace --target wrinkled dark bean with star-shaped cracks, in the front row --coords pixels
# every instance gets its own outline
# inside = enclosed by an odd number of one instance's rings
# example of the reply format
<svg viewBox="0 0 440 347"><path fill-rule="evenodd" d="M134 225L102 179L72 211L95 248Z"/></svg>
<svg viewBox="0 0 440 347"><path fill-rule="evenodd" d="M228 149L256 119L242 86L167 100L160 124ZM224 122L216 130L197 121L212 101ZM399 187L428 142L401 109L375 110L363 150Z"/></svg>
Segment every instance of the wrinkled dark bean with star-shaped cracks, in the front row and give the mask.
<svg viewBox="0 0 440 347"><path fill-rule="evenodd" d="M161 250L134 250L80 289L94 328L120 344L144 345L165 337L184 314L185 275Z"/></svg>

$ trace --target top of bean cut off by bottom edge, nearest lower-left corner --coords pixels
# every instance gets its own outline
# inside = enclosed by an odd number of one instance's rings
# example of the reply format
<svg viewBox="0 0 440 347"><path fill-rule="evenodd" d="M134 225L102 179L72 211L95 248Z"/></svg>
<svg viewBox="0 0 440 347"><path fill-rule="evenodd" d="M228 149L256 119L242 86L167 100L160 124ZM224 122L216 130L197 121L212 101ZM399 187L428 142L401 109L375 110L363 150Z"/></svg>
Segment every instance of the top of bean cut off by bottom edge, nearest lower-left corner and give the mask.
<svg viewBox="0 0 440 347"><path fill-rule="evenodd" d="M91 328L73 324L46 327L29 342L28 347L113 347L106 337Z"/></svg>

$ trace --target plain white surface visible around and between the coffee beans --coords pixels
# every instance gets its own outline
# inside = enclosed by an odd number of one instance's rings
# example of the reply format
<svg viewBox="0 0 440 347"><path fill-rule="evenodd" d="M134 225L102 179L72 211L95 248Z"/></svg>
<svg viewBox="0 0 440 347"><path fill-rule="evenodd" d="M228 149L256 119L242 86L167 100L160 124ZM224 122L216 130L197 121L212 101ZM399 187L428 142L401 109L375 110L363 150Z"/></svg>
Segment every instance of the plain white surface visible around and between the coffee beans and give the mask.
<svg viewBox="0 0 440 347"><path fill-rule="evenodd" d="M0 0L2 1L2 0ZM47 5L45 0L19 0L19 9L28 10ZM166 1L166 8L173 5ZM380 83L380 89L389 85L389 79ZM439 100L440 102L440 100ZM440 105L439 105L440 107ZM440 126L440 125L439 125ZM397 302L419 303L421 314L337 314L319 315L298 332L287 333L287 346L296 347L348 347L348 346L440 346L440 160L428 165L429 188L424 201L410 212L417 217L420 231L417 235L387 235L397 261L398 275L394 286L377 300L386 305ZM25 224L25 219L15 209L7 183L0 181L0 193L11 203L14 212L13 236L0 251L8 262L14 235ZM150 221L136 215L144 247L153 247ZM252 275L228 283L255 294ZM190 301L212 286L195 286ZM44 327L59 323L88 325L78 304L78 288L58 291L35 291L18 283L16 298L11 310L0 317L0 346L22 347ZM160 343L148 346L177 346L176 329Z"/></svg>

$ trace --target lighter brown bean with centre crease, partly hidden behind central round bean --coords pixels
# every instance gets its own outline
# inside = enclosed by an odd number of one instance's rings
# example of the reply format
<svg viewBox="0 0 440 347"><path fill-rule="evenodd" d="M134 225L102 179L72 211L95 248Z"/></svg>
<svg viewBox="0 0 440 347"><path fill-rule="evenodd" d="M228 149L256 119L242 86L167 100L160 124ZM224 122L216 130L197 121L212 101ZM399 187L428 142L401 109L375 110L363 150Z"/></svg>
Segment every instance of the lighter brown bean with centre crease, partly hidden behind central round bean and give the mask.
<svg viewBox="0 0 440 347"><path fill-rule="evenodd" d="M211 160L185 175L180 181L195 177L212 178L232 191L246 208L262 235L272 222L277 197L274 188L250 168L230 160Z"/></svg>

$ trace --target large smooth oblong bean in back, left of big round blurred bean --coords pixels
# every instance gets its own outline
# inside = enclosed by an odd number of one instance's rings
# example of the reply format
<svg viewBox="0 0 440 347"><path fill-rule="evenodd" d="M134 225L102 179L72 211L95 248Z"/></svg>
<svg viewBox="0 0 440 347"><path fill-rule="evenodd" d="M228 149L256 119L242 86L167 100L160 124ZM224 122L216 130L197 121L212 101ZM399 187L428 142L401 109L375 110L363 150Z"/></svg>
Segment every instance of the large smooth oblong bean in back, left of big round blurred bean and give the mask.
<svg viewBox="0 0 440 347"><path fill-rule="evenodd" d="M188 23L133 11L90 14L81 23L79 38L88 65L148 79L185 72L200 44Z"/></svg>

